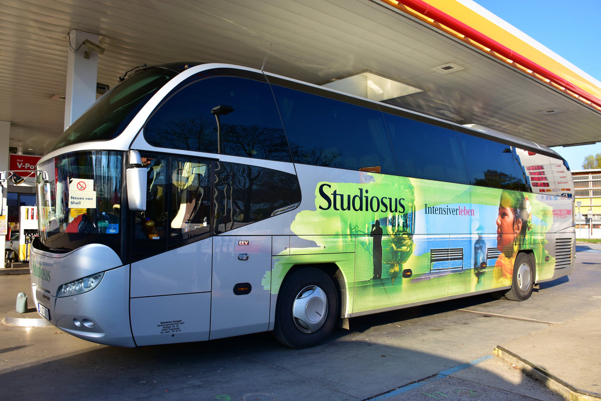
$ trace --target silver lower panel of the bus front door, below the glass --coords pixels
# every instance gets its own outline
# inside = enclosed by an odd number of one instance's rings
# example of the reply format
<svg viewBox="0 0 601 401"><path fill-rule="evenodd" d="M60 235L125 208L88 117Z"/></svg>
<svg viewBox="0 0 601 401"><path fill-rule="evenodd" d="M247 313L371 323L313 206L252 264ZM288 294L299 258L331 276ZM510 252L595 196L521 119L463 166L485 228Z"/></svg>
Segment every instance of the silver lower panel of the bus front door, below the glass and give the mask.
<svg viewBox="0 0 601 401"><path fill-rule="evenodd" d="M132 263L130 319L138 346L209 339L211 242Z"/></svg>

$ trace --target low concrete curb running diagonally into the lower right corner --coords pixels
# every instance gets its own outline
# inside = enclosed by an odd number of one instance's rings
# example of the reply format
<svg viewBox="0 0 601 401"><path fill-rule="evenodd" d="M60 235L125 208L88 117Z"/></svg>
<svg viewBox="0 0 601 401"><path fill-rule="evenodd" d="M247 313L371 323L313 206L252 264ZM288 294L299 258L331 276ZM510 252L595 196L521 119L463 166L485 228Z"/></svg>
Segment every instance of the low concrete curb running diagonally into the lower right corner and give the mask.
<svg viewBox="0 0 601 401"><path fill-rule="evenodd" d="M547 370L540 366L526 361L513 354L510 350L498 345L493 353L510 364L513 364L517 369L521 370L526 375L542 383L549 390L555 391L569 401L601 401L601 394L593 393L592 391L580 390L573 385L561 380L555 375L552 375Z"/></svg>

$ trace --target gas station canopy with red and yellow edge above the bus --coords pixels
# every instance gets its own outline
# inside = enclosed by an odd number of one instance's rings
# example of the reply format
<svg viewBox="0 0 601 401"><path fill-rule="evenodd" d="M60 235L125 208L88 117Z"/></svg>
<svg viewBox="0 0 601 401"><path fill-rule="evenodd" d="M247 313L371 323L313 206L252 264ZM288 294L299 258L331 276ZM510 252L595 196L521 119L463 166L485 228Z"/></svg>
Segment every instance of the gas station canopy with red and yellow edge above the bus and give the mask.
<svg viewBox="0 0 601 401"><path fill-rule="evenodd" d="M99 88L182 60L334 87L368 73L410 88L373 84L383 102L548 146L601 141L601 84L471 0L0 3L0 121L14 153L42 155L63 132L74 30L99 35Z"/></svg>

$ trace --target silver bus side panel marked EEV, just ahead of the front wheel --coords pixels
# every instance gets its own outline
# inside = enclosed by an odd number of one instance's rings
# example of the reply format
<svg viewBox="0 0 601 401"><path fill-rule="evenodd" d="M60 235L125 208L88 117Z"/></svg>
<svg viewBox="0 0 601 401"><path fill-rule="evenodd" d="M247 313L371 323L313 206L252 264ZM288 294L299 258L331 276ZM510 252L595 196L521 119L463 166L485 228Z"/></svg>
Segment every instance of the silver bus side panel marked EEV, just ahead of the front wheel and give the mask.
<svg viewBox="0 0 601 401"><path fill-rule="evenodd" d="M267 331L271 236L213 237L210 339Z"/></svg>

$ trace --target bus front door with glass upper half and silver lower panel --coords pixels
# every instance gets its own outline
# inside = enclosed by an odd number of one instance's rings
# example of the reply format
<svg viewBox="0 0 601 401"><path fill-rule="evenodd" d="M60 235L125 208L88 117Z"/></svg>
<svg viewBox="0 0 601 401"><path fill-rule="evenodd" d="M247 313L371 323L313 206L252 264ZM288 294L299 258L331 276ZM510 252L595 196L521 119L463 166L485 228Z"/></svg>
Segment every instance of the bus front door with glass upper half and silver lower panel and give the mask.
<svg viewBox="0 0 601 401"><path fill-rule="evenodd" d="M130 313L139 346L209 339L210 161L142 153L146 210L131 216Z"/></svg>

